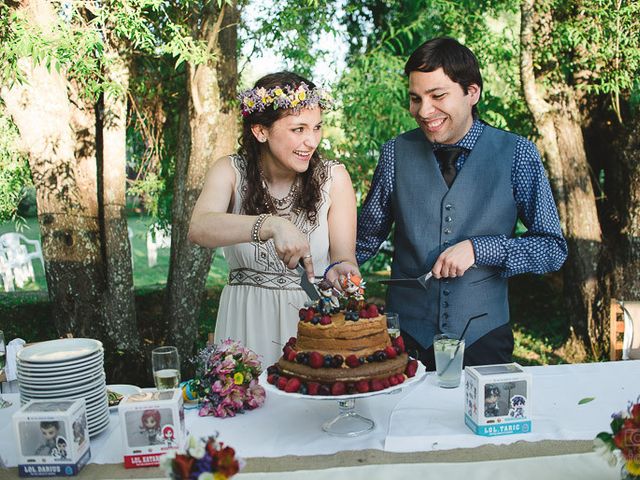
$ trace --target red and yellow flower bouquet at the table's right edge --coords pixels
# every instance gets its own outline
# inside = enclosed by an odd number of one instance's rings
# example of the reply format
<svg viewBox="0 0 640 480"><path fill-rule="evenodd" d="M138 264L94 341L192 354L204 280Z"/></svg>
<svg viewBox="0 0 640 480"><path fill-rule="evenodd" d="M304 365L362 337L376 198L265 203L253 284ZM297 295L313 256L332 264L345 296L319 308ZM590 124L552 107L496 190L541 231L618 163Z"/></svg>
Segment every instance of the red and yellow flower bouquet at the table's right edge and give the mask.
<svg viewBox="0 0 640 480"><path fill-rule="evenodd" d="M611 415L611 433L600 432L594 447L614 466L623 462L623 477L640 479L640 397L626 411Z"/></svg>

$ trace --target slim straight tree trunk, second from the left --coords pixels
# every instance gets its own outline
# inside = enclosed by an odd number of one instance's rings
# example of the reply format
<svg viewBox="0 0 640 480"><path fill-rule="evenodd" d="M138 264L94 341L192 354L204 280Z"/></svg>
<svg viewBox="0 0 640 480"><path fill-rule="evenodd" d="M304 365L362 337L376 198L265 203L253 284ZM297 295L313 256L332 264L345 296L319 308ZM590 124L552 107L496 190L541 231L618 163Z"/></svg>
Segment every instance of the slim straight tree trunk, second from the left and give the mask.
<svg viewBox="0 0 640 480"><path fill-rule="evenodd" d="M128 60L110 45L105 55L107 80L119 87L119 92L107 91L103 96L103 111L99 121L102 137L98 152L98 198L103 255L106 269L104 314L105 341L114 378L129 381L132 362L144 359L136 323L135 295L131 245L126 214L126 130L129 88ZM142 358L141 358L142 357Z"/></svg>

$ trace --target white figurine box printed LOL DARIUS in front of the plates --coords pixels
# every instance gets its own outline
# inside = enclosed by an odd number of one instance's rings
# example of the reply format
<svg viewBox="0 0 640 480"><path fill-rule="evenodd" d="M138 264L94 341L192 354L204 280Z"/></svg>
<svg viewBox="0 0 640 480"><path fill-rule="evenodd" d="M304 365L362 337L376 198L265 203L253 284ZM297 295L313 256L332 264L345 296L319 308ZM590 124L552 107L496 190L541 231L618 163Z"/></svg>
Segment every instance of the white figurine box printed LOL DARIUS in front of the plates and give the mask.
<svg viewBox="0 0 640 480"><path fill-rule="evenodd" d="M31 400L13 426L21 477L77 475L91 458L84 399Z"/></svg>

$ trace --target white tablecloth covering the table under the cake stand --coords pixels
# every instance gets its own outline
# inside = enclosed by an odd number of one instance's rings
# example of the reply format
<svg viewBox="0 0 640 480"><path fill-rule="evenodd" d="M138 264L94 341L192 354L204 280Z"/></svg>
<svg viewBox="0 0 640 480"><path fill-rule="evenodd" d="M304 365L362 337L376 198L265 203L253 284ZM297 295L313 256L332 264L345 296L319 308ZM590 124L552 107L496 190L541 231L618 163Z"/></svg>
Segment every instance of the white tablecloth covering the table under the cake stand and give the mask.
<svg viewBox="0 0 640 480"><path fill-rule="evenodd" d="M334 400L282 395L268 395L263 407L234 418L203 418L197 416L196 410L187 410L186 423L196 436L219 432L220 440L245 458L313 456L365 449L428 452L516 441L591 440L598 432L608 430L611 413L625 408L629 400L640 394L640 361L527 367L527 370L533 376L533 432L529 434L492 438L474 435L464 425L463 388L438 388L432 374L401 393L357 400L356 410L376 422L373 432L360 437L333 437L321 430L322 423L338 413ZM17 452L10 418L19 401L17 395L6 397L14 401L14 406L0 410L0 457L8 466L15 466ZM586 397L594 400L579 405ZM91 439L91 461L121 463L121 445L119 419L113 413L109 428ZM587 457L587 463L600 462L592 454ZM447 471L471 467L442 468ZM324 474L318 475L324 478Z"/></svg>

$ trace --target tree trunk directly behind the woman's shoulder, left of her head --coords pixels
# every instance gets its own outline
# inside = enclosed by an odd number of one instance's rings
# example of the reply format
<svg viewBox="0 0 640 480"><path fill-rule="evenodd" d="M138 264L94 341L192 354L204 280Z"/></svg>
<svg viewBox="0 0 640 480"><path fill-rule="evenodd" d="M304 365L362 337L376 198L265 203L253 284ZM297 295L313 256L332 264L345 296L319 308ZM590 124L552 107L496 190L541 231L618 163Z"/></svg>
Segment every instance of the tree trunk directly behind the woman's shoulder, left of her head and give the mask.
<svg viewBox="0 0 640 480"><path fill-rule="evenodd" d="M210 8L202 26L197 28L215 58L207 64L189 65L187 69L188 125L183 122L181 130L190 133L190 154L182 152L177 159L164 308L168 340L178 347L183 358L194 352L197 319L212 255L211 250L187 240L189 220L207 170L217 158L234 151L237 139L237 115L230 100L236 95L239 15L235 3L223 4L221 9L210 4Z"/></svg>

